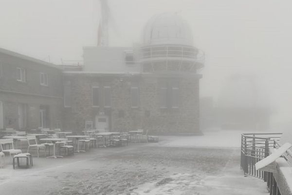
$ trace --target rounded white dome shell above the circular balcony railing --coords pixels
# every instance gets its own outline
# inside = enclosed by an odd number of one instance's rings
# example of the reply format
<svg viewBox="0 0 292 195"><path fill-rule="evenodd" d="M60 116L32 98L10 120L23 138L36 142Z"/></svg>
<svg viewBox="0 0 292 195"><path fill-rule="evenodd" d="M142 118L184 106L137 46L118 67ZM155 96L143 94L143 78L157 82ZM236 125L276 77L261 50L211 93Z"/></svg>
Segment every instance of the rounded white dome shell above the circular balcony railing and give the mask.
<svg viewBox="0 0 292 195"><path fill-rule="evenodd" d="M180 44L193 46L190 27L178 14L164 13L152 17L146 24L144 45Z"/></svg>

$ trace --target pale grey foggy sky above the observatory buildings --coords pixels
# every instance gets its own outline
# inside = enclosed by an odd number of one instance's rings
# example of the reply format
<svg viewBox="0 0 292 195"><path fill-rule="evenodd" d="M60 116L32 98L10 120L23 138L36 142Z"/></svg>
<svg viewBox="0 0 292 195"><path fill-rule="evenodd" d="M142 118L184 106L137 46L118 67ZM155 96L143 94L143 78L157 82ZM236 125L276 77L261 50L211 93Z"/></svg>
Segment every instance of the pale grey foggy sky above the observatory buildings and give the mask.
<svg viewBox="0 0 292 195"><path fill-rule="evenodd" d="M218 98L226 77L253 74L277 108L292 116L291 0L109 0L110 45L140 42L146 21L167 11L189 22L206 54L201 96ZM97 42L98 0L0 0L0 47L60 63Z"/></svg>

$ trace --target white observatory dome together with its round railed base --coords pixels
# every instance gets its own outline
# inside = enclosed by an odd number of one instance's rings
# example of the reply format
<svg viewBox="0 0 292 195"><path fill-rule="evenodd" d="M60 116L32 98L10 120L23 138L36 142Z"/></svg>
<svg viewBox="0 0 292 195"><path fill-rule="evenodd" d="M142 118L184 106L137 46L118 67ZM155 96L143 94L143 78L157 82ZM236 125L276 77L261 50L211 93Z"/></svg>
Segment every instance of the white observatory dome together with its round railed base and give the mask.
<svg viewBox="0 0 292 195"><path fill-rule="evenodd" d="M164 13L146 24L140 61L143 72L196 73L204 55L194 47L186 21L176 13Z"/></svg>

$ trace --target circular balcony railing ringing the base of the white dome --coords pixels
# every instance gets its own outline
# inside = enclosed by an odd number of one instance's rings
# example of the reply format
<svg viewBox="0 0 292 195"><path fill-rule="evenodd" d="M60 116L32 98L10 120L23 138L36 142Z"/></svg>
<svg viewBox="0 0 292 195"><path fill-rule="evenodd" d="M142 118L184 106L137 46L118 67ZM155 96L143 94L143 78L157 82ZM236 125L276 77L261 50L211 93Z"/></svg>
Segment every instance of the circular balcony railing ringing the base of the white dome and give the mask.
<svg viewBox="0 0 292 195"><path fill-rule="evenodd" d="M195 47L173 46L173 45L156 45L143 47L140 50L141 59L155 58L186 58L195 59L198 62L204 61L204 53Z"/></svg>

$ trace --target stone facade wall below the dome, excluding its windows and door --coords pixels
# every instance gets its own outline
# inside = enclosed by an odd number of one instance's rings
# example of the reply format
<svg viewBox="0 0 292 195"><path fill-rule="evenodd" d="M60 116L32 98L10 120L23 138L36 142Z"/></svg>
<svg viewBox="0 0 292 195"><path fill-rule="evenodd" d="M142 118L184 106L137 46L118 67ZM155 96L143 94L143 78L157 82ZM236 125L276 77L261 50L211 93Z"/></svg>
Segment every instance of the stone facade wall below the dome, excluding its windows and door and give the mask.
<svg viewBox="0 0 292 195"><path fill-rule="evenodd" d="M104 113L109 117L111 131L148 129L151 133L193 133L199 134L199 79L200 75L137 74L65 74L65 82L71 82L72 106L65 108L63 126L65 129L81 131L86 121ZM161 108L161 82L179 81L178 108ZM92 87L110 86L111 107L92 107ZM131 106L131 87L139 89L139 106ZM103 92L100 90L100 102Z"/></svg>

